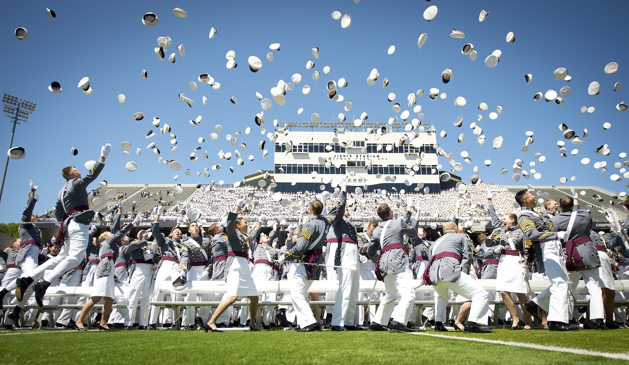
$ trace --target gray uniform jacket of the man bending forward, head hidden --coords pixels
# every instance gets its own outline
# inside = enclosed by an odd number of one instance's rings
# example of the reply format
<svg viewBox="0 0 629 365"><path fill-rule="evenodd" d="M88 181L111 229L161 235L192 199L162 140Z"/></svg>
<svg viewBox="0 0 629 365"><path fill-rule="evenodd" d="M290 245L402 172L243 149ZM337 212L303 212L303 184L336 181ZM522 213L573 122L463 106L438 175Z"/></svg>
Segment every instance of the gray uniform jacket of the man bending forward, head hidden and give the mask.
<svg viewBox="0 0 629 365"><path fill-rule="evenodd" d="M469 274L472 268L472 254L476 251L467 234L448 232L433 242L431 263L428 266L430 283L435 285L438 280L454 283L461 273ZM459 259L444 254L455 254ZM434 258L434 259L433 259Z"/></svg>

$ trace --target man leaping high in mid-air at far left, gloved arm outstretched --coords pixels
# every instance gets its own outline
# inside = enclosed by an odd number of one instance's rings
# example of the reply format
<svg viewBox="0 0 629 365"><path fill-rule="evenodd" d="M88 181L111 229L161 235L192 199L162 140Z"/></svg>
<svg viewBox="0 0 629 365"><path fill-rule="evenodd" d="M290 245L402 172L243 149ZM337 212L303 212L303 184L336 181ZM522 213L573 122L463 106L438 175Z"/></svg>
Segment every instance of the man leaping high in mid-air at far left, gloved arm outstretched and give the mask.
<svg viewBox="0 0 629 365"><path fill-rule="evenodd" d="M100 158L84 178L81 178L81 173L74 166L68 166L62 170L61 175L67 181L58 194L55 210L57 221L62 222L57 237L61 251L55 258L31 271L28 276L18 278L15 294L19 301L25 297L28 286L43 276L43 281L33 285L35 301L37 305L42 307L43 295L50 283L81 262L87 244L89 244L87 241L89 222L94 217L94 210L89 209L86 188L103 170L109 151L111 151L111 144L107 143L101 148ZM46 270L50 270L50 272L44 275Z"/></svg>

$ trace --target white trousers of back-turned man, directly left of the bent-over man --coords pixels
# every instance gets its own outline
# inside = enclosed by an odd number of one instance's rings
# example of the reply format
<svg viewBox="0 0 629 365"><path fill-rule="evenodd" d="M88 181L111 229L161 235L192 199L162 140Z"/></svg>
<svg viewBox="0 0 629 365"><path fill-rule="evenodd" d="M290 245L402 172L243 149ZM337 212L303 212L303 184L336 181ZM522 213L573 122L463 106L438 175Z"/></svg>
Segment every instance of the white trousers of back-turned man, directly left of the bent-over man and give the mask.
<svg viewBox="0 0 629 365"><path fill-rule="evenodd" d="M385 294L380 301L374 322L387 325L389 318L392 317L394 321L406 325L411 316L413 304L415 304L411 270L407 267L403 273L384 276L384 290ZM398 298L398 294L399 303L395 305L394 302Z"/></svg>

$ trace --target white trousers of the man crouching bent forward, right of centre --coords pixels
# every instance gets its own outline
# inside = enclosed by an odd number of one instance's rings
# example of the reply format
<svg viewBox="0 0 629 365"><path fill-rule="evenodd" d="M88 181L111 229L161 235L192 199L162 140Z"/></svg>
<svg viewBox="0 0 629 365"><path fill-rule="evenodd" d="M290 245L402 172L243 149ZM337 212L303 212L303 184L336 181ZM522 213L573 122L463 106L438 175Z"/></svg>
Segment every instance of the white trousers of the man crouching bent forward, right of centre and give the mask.
<svg viewBox="0 0 629 365"><path fill-rule="evenodd" d="M472 274L474 275L474 274ZM433 285L437 292L435 298L435 322L445 322L445 312L450 299L448 290L472 301L467 320L477 324L487 325L487 313L489 312L489 295L476 280L469 275L461 273L457 281L438 280Z"/></svg>

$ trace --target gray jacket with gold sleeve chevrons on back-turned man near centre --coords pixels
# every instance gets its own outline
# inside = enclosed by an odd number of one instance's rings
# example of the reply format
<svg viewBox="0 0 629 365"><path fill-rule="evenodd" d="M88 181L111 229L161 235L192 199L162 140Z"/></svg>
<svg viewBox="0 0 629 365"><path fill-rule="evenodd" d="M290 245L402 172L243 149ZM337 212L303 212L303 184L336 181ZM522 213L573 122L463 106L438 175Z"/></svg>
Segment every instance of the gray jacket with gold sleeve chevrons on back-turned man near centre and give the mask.
<svg viewBox="0 0 629 365"><path fill-rule="evenodd" d="M306 265L308 280L319 280L322 271L321 266L309 264L323 263L323 245L333 219L333 213L325 218L321 215L315 215L299 233L299 238L294 242L294 245L292 247L287 246L286 261L296 262L301 260ZM321 238L319 239L319 237Z"/></svg>

